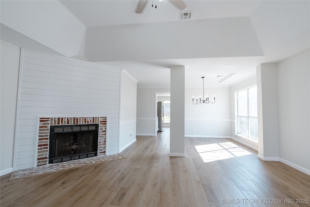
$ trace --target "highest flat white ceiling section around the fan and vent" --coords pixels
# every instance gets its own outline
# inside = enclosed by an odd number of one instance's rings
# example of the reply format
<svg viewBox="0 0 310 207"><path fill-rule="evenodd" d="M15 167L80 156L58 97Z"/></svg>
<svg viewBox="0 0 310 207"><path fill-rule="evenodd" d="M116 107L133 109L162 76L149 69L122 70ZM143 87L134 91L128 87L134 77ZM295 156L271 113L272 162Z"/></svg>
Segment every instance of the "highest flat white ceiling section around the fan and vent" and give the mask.
<svg viewBox="0 0 310 207"><path fill-rule="evenodd" d="M143 14L134 13L139 0L61 0L87 27L179 20L179 10L169 0L152 0ZM250 16L259 6L256 0L185 0L183 11L193 11L193 19Z"/></svg>

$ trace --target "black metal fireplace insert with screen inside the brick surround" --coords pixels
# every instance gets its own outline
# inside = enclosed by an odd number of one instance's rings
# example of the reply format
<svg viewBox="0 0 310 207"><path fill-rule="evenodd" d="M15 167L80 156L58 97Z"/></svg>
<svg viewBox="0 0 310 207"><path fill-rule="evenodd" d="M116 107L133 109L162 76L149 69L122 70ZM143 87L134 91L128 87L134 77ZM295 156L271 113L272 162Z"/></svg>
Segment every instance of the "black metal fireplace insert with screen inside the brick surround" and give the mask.
<svg viewBox="0 0 310 207"><path fill-rule="evenodd" d="M97 156L98 124L51 126L48 163Z"/></svg>

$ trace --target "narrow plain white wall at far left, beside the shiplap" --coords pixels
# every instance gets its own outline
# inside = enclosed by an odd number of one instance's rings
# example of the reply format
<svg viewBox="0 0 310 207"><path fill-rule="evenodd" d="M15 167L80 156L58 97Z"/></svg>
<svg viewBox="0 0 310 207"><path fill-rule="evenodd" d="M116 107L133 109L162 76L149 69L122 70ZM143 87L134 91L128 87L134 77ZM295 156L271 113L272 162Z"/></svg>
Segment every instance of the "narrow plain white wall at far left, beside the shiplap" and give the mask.
<svg viewBox="0 0 310 207"><path fill-rule="evenodd" d="M0 175L13 170L20 48L0 43Z"/></svg>

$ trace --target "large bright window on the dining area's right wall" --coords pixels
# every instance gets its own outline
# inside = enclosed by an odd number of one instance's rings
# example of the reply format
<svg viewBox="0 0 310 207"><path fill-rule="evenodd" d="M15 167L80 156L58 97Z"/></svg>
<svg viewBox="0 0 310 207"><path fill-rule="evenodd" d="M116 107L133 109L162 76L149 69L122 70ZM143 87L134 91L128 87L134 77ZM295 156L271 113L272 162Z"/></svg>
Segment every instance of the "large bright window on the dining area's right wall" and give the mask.
<svg viewBox="0 0 310 207"><path fill-rule="evenodd" d="M236 98L237 134L257 141L257 86L238 91Z"/></svg>

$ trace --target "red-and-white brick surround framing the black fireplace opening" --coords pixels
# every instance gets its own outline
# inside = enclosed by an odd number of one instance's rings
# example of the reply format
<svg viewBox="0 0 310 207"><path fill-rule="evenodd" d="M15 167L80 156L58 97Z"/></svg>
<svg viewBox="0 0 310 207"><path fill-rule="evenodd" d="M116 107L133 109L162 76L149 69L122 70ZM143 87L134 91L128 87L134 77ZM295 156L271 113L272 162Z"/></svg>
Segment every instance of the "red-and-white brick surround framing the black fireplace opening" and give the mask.
<svg viewBox="0 0 310 207"><path fill-rule="evenodd" d="M98 156L106 155L107 117L43 117L40 118L37 167L48 164L49 129L57 125L99 124Z"/></svg>

